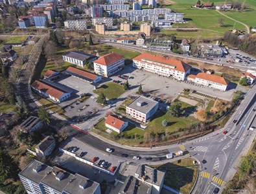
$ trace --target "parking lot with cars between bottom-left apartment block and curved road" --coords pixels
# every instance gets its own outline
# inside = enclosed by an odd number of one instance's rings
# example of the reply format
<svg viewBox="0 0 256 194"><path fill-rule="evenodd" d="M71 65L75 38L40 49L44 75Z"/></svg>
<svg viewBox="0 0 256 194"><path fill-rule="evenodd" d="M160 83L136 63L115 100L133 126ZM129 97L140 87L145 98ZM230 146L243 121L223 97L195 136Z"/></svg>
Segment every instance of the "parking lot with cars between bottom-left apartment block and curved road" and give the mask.
<svg viewBox="0 0 256 194"><path fill-rule="evenodd" d="M94 149L93 147L88 147L87 144L80 142L76 138L68 138L62 144L61 148L68 151L71 155L78 156L78 160L80 158L82 159L81 161L87 160L88 163L93 164L97 169L101 169L102 171L114 173L118 169L120 162L123 162L122 158L117 161L112 155Z"/></svg>

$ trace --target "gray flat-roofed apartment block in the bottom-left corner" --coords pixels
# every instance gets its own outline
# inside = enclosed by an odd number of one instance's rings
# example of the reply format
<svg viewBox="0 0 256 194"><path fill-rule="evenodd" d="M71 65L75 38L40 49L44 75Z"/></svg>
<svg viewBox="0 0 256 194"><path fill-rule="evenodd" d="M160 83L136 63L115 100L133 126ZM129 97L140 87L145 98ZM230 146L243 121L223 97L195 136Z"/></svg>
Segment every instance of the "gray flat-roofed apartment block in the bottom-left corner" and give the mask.
<svg viewBox="0 0 256 194"><path fill-rule="evenodd" d="M30 162L19 178L29 194L100 194L99 183L38 160Z"/></svg>

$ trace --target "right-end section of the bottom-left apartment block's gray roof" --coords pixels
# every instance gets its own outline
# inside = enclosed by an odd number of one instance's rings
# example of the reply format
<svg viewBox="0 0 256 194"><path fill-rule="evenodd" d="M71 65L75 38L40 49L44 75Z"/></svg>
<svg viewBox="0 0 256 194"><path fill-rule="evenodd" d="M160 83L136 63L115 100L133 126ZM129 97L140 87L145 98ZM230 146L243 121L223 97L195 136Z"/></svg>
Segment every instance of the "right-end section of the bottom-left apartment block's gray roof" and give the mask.
<svg viewBox="0 0 256 194"><path fill-rule="evenodd" d="M89 180L89 178L76 174L64 191L65 193L91 194L95 192L95 189L97 189L98 186L98 182L94 182L93 180Z"/></svg>

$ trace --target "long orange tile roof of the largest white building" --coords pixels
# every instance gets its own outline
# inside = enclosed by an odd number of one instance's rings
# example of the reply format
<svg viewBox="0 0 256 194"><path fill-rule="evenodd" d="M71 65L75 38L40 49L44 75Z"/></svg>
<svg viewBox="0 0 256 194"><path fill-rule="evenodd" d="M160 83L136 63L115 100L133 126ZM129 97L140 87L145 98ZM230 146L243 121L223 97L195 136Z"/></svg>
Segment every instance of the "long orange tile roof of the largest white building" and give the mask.
<svg viewBox="0 0 256 194"><path fill-rule="evenodd" d="M178 70L180 72L187 72L187 70L191 69L191 66L187 65L187 63L184 63L183 61L178 61L176 59L169 59L169 58L165 58L163 56L156 56L156 55L149 54L146 52L135 57L133 60L142 61L142 59L152 61L152 63L157 62L157 63L163 63L164 65L175 66L174 70ZM147 61L146 63L150 63L150 62ZM156 64L154 64L154 65L156 65ZM161 66L161 65L157 65L157 66ZM172 68L170 68L170 69L172 69Z"/></svg>

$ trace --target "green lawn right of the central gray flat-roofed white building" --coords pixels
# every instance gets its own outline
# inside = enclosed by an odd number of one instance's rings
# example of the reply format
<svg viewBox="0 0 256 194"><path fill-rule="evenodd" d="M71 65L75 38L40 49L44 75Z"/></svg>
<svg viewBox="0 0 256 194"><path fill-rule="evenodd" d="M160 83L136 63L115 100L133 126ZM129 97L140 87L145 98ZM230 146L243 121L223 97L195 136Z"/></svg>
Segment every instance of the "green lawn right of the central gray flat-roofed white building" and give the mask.
<svg viewBox="0 0 256 194"><path fill-rule="evenodd" d="M167 120L167 127L163 127L163 120ZM179 131L181 128L190 127L192 124L197 124L199 121L192 116L188 117L174 117L169 116L163 112L157 113L154 120L146 127L146 132L151 133L164 133L168 131L169 135L172 135Z"/></svg>

